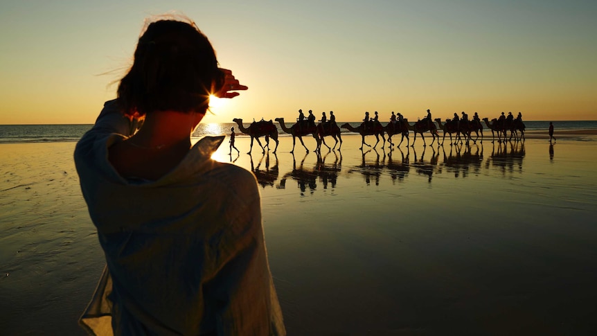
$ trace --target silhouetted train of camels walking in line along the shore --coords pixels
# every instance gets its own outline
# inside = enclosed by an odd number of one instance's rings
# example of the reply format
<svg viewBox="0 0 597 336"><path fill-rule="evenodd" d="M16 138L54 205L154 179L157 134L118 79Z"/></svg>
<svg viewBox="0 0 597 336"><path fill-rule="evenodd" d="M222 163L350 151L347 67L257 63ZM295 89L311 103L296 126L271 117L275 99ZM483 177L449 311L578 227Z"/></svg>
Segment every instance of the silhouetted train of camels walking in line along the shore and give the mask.
<svg viewBox="0 0 597 336"><path fill-rule="evenodd" d="M425 140L425 133L429 132L431 134L431 144L434 145L435 141L438 143L439 146L443 146L445 142L446 135L449 136L449 145L454 145L456 143L476 143L476 141L480 141L483 143L483 123L481 120L485 122L485 126L491 130L492 134L492 142L495 141L497 137L497 141L499 143L512 141L524 141L524 130L525 125L522 122L521 114L517 118L512 118L511 113L508 117L504 116L504 112L502 112L499 118L493 118L489 121L489 118L479 119L478 116L475 116L472 121L468 120L452 120L446 119L442 121L440 118L435 118L433 121L423 118L420 121L416 121L415 123L411 124L408 122L406 118L402 119L402 121L395 121L390 122L387 125L382 125L379 121L363 121L357 127L351 125L351 123L344 123L338 126L335 121L324 121L318 124L315 124L312 121L296 121L293 125L288 127L284 121L284 118L275 118L274 120L277 121L280 125L280 130L283 132L292 135L292 150L291 153L294 153L294 148L296 147L296 139L299 139L303 148L305 148L306 152L310 152L310 149L305 145L303 141L303 136L312 137L316 142L316 147L314 148L314 152L320 152L322 145L325 145L328 150L340 150L342 146L342 137L341 137L341 128L346 129L348 132L358 133L361 135L361 147L359 148L362 150L364 146L369 148L376 148L377 145L380 143L380 137L383 141L382 146L386 143L386 135L388 137L387 141L389 142L389 148L393 146L397 146L400 148L404 138L407 139L407 147L410 145L414 147L417 134L420 134L423 146L427 146L427 141ZM265 153L265 148L269 150L269 139L273 139L276 142L276 148L274 148L274 153L278 149L278 127L274 124L273 121L258 121L251 123L248 127L244 127L242 124L242 119L234 118L233 122L238 124L240 132L243 134L248 134L251 136L251 147L249 148L249 152L253 149L253 141L257 141L258 145L260 146L262 153ZM438 130L443 131L443 136L440 136ZM508 131L510 131L510 136L508 136ZM409 132L414 133L414 139L412 144L410 143ZM473 138L474 133L474 138ZM401 136L400 143L396 145L392 137L393 136ZM265 136L265 145L262 145L260 141L260 137ZM332 137L335 140L335 144L330 146L326 143L326 137ZM375 144L370 145L366 143L366 136L375 136ZM454 139L453 139L454 136ZM481 139L479 139L479 136ZM440 142L441 139L441 142ZM337 147L337 148L336 148Z"/></svg>

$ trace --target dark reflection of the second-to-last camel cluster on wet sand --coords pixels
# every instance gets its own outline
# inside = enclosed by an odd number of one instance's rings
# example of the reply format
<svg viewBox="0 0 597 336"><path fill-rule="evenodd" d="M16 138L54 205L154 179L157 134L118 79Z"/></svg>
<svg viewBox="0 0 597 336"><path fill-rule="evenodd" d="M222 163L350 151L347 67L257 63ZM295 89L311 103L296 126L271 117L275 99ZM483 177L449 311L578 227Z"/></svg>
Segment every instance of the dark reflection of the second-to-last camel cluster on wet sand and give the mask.
<svg viewBox="0 0 597 336"><path fill-rule="evenodd" d="M472 148L476 148L474 153ZM444 161L441 164L448 173L454 173L454 177L467 177L470 173L479 174L483 162L483 145L455 145L450 146L449 154L446 154L442 147Z"/></svg>

